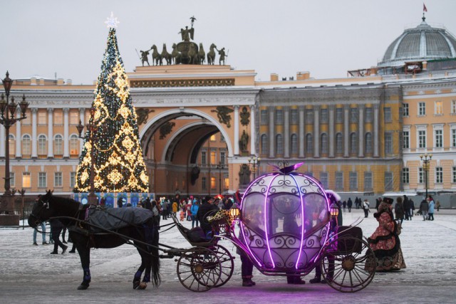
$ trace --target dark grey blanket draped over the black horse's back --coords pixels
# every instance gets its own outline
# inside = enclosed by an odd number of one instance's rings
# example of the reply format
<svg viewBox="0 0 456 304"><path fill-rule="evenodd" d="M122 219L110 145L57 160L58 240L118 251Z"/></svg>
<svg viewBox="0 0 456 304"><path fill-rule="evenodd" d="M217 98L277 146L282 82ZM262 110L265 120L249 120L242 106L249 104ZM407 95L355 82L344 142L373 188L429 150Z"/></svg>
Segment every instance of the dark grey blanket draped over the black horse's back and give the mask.
<svg viewBox="0 0 456 304"><path fill-rule="evenodd" d="M152 219L153 216L152 211L144 208L88 208L86 220L89 224L94 225L91 230L103 232L102 229L98 229L95 226L100 226L107 230L115 230L125 226L144 224L149 219Z"/></svg>

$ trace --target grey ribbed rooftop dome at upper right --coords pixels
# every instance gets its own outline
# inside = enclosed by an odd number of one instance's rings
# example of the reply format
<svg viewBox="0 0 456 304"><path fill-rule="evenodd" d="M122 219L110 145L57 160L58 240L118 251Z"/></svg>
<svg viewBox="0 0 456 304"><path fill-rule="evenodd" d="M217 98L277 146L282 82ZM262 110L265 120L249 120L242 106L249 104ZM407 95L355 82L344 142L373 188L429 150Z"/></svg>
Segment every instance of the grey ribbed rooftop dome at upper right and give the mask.
<svg viewBox="0 0 456 304"><path fill-rule="evenodd" d="M425 22L406 29L388 46L379 67L402 66L410 61L456 58L456 38L444 28L433 28Z"/></svg>

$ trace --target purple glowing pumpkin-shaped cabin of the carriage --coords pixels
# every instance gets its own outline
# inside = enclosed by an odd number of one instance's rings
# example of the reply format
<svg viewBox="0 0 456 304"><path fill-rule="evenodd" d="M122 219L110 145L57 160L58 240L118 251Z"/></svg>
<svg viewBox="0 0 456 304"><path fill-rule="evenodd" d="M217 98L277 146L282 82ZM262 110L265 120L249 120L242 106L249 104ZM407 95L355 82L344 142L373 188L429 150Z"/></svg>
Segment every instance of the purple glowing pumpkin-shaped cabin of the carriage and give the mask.
<svg viewBox="0 0 456 304"><path fill-rule="evenodd" d="M306 273L328 240L331 209L317 179L276 172L255 179L242 198L239 241L264 273Z"/></svg>

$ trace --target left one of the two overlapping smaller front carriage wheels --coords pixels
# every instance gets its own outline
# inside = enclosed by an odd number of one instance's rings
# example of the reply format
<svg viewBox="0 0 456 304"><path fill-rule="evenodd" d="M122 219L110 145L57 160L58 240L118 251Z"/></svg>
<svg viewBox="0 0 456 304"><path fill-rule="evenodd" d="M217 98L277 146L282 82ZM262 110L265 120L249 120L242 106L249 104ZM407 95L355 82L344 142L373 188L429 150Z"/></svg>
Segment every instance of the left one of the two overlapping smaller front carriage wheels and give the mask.
<svg viewBox="0 0 456 304"><path fill-rule="evenodd" d="M195 247L184 251L177 261L177 276L188 290L207 291L217 285L222 273L220 260L214 251Z"/></svg>

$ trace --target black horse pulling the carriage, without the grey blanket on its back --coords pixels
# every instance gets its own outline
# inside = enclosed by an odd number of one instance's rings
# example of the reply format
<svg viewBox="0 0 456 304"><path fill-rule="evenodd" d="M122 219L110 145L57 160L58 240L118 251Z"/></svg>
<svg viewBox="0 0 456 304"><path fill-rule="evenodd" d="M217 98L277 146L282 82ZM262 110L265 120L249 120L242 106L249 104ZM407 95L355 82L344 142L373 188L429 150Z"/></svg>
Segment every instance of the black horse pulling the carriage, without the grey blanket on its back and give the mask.
<svg viewBox="0 0 456 304"><path fill-rule="evenodd" d="M153 286L160 285L159 236L154 216L139 225L130 223L128 226L107 231L103 227L88 224L85 220L88 208L91 208L90 205L82 205L73 199L53 196L49 190L33 204L31 215L28 217L28 225L35 229L39 223L50 218L58 218L68 227L71 241L76 245L83 267L83 282L78 289L87 289L90 283L90 248L115 248L129 241L133 241L141 256L141 266L133 277L133 288L145 289L151 279ZM100 229L103 232L100 232ZM141 282L143 271L145 275Z"/></svg>

